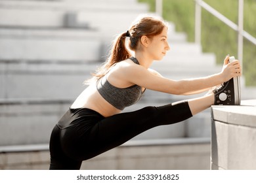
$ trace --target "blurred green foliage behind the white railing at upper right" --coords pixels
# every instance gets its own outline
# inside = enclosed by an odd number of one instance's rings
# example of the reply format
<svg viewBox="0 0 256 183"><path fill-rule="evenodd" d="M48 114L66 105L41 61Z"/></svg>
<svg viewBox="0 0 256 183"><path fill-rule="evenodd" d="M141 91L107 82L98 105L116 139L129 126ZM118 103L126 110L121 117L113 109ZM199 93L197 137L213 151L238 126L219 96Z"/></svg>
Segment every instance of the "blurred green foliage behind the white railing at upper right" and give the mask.
<svg viewBox="0 0 256 183"><path fill-rule="evenodd" d="M155 0L149 3L155 10ZM232 22L238 22L238 0L205 0L211 7ZM194 0L163 0L163 18L175 24L177 31L184 31L188 41L194 41ZM256 37L256 1L244 0L244 29ZM237 58L237 32L202 8L203 52L214 52L217 63L222 64L226 54ZM256 86L256 46L244 39L243 75L247 86Z"/></svg>

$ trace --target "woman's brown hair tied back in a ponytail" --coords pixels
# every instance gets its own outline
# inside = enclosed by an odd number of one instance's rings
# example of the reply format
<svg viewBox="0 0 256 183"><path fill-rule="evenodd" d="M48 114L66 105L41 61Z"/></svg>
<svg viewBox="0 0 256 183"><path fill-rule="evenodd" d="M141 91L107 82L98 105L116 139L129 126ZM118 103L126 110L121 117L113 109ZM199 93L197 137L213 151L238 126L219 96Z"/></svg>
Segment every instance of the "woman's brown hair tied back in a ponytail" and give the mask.
<svg viewBox="0 0 256 183"><path fill-rule="evenodd" d="M152 38L159 35L164 27L167 27L167 23L163 22L160 18L153 16L143 16L142 18L135 20L129 29L129 48L133 51L137 50L139 45L138 42L143 35ZM125 47L126 37L127 32L116 37L112 44L112 50L110 50L108 59L106 59L102 66L96 70L92 80L102 78L115 63L131 57L131 53Z"/></svg>

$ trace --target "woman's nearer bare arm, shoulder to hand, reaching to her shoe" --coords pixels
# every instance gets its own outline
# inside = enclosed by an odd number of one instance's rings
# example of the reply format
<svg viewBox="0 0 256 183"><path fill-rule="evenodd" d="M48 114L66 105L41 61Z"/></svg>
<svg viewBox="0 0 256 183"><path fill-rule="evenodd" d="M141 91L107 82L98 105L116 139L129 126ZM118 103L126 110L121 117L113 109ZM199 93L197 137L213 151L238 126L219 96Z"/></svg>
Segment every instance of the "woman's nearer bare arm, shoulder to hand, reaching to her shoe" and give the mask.
<svg viewBox="0 0 256 183"><path fill-rule="evenodd" d="M204 92L213 86L230 80L234 76L240 76L240 72L238 61L225 65L221 73L183 80L171 80L161 75L152 74L148 69L133 63L126 63L118 69L119 79L121 80L137 84L149 90L176 95L189 95L198 93L198 91Z"/></svg>

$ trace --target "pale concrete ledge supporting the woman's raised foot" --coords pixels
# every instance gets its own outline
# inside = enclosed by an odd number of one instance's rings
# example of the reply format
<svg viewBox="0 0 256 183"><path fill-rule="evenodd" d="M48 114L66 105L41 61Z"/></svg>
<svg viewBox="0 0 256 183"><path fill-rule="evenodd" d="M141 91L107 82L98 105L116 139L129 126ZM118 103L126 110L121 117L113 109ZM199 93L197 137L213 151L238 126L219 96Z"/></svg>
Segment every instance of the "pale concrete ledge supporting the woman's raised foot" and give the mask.
<svg viewBox="0 0 256 183"><path fill-rule="evenodd" d="M256 169L256 100L211 107L211 169Z"/></svg>

